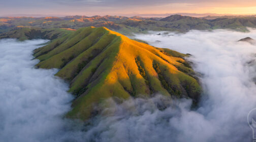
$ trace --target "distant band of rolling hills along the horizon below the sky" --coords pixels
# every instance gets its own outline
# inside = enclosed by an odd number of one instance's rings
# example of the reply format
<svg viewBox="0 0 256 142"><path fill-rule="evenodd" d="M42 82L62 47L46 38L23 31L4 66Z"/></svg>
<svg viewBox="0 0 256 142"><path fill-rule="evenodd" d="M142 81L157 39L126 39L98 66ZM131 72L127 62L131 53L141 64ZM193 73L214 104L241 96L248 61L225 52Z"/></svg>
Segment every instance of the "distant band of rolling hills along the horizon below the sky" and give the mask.
<svg viewBox="0 0 256 142"><path fill-rule="evenodd" d="M246 31L246 27L256 27L256 17L252 16L217 16L196 18L182 15L171 15L166 18L145 18L125 16L66 16L66 17L2 17L0 18L0 33L22 27L36 28L72 28L86 26L105 26L111 30L129 35L138 32L178 31L191 29L212 30L228 28Z"/></svg>

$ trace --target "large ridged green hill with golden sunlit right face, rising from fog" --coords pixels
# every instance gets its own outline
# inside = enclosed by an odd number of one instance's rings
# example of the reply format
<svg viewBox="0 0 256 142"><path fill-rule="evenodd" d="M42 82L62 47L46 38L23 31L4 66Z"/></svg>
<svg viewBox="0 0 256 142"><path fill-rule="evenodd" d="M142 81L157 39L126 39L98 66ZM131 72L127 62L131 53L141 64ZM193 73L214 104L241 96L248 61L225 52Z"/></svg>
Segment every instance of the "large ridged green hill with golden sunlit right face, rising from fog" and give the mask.
<svg viewBox="0 0 256 142"><path fill-rule="evenodd" d="M70 81L77 97L69 117L87 119L93 105L109 97L190 97L200 86L186 55L130 40L105 27L85 27L35 50L41 68L60 68L56 76Z"/></svg>

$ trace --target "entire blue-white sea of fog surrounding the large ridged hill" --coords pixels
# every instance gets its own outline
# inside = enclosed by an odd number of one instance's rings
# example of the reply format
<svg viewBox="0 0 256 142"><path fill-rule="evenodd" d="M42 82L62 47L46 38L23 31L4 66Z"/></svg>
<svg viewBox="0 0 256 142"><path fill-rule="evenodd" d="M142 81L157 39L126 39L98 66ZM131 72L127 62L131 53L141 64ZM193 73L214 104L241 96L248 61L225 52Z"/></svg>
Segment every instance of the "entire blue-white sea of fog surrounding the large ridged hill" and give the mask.
<svg viewBox="0 0 256 142"><path fill-rule="evenodd" d="M150 45L193 56L203 94L191 100L155 97L113 100L103 114L82 124L65 119L71 109L68 84L56 69L36 69L32 51L45 40L0 40L0 141L251 141L247 114L256 108L256 30L137 34ZM158 110L155 103L165 104ZM132 111L131 111L132 110Z"/></svg>

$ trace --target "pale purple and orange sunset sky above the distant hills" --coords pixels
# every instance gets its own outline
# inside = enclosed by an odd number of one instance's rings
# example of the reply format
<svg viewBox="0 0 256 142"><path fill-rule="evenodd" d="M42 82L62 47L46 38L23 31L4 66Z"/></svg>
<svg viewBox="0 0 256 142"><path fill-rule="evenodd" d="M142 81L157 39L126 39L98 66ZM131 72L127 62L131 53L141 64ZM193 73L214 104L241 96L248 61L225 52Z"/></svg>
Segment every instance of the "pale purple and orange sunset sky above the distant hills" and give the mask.
<svg viewBox="0 0 256 142"><path fill-rule="evenodd" d="M256 14L255 0L0 0L0 16Z"/></svg>

